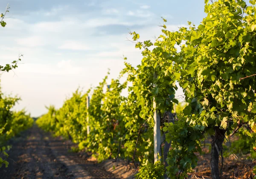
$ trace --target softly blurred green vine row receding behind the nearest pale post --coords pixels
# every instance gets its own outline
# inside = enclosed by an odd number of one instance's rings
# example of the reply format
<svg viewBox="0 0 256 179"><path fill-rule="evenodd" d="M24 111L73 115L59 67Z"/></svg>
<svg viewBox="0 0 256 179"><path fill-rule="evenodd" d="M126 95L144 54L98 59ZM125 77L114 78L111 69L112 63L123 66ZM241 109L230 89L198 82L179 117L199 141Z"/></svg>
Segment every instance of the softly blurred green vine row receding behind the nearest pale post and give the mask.
<svg viewBox="0 0 256 179"><path fill-rule="evenodd" d="M105 91L106 76L93 90L88 110L85 97L90 90L83 97L81 92L76 91L59 110L49 108L48 113L37 120L38 126L79 143L80 150L87 148L98 161L109 157L126 158L133 162L148 157L153 160L153 98L159 112L163 113L172 109L170 100L175 100L175 90L161 68L151 67L148 61L150 57L144 57L137 69L125 63L126 68L120 78L128 74L127 81L121 84L119 79L112 79ZM156 73L157 78L154 78ZM121 93L128 82L131 83L129 95L122 97ZM163 91L161 88L169 90ZM90 126L88 136L87 125Z"/></svg>

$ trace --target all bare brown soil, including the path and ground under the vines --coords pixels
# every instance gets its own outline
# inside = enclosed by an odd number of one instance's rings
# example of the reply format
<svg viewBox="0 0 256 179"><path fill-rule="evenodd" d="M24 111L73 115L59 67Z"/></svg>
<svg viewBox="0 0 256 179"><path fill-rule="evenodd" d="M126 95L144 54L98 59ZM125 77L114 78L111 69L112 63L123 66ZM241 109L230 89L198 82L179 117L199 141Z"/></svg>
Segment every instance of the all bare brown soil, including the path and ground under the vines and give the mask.
<svg viewBox="0 0 256 179"><path fill-rule="evenodd" d="M122 160L98 164L86 151L69 152L77 144L52 137L36 125L11 139L9 145L9 167L0 168L0 179L134 179L138 171ZM210 153L205 150L188 179L211 179ZM253 166L248 156L225 157L222 179L253 179Z"/></svg>

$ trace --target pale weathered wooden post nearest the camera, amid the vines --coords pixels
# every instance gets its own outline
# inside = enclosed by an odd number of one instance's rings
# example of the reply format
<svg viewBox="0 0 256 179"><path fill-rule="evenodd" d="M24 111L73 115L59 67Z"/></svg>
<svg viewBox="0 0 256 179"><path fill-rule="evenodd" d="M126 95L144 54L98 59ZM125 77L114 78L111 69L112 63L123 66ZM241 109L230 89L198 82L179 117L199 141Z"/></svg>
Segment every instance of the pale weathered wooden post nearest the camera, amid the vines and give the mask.
<svg viewBox="0 0 256 179"><path fill-rule="evenodd" d="M154 79L157 78L157 74L154 73ZM154 84L154 87L156 85ZM158 156L157 154L160 154L160 148L161 148L161 129L160 129L160 115L157 113L157 104L154 98L153 101L153 108L154 108L154 162L157 162ZM161 154L160 154L161 156Z"/></svg>

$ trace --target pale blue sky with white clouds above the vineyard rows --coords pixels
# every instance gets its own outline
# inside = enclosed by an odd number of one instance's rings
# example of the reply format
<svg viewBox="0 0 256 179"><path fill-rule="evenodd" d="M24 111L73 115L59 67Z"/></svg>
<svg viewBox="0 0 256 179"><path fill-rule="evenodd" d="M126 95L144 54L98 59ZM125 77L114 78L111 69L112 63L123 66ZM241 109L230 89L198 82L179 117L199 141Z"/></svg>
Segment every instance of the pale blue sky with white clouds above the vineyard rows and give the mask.
<svg viewBox="0 0 256 179"><path fill-rule="evenodd" d="M161 34L161 16L168 30L175 31L206 16L204 0L1 0L6 27L0 28L0 64L22 60L14 71L3 73L3 93L18 95L31 116L47 112L50 104L60 108L79 86L97 86L110 69L109 80L124 68L123 56L140 64L129 31L140 41ZM182 94L179 89L176 95Z"/></svg>

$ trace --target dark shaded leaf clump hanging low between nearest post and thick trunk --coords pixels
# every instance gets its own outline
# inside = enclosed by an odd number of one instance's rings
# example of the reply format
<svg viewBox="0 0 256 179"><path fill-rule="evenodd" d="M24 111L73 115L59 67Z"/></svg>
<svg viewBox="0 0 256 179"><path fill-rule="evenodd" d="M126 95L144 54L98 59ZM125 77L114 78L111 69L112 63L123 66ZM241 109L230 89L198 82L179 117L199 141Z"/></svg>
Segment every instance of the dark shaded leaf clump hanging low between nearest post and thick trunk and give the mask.
<svg viewBox="0 0 256 179"><path fill-rule="evenodd" d="M166 167L167 175L175 177L186 177L186 173L195 168L197 164L196 152L201 153L201 142L204 135L204 126L196 125L189 126L184 119L173 123L166 123L163 131L168 131L166 134L167 142L172 140L172 148L169 151L168 164Z"/></svg>

